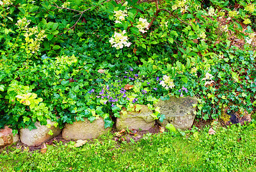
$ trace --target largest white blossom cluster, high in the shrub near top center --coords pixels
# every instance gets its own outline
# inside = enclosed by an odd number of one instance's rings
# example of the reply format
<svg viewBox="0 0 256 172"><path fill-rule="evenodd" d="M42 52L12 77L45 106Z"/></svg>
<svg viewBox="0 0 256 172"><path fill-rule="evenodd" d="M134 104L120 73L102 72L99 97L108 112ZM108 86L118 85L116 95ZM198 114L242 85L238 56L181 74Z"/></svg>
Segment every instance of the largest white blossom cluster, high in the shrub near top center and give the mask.
<svg viewBox="0 0 256 172"><path fill-rule="evenodd" d="M130 47L132 43L128 42L128 37L125 36L125 33L125 30L122 31L122 33L114 33L114 35L109 39L112 47L115 47L116 49L122 49L124 46Z"/></svg>

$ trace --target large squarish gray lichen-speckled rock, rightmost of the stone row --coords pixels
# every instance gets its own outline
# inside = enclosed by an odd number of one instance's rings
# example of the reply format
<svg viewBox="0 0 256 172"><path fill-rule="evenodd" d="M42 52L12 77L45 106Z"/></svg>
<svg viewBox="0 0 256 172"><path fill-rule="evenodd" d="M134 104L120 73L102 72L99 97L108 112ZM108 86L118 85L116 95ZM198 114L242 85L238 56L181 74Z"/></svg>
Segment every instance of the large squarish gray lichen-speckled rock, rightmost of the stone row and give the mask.
<svg viewBox="0 0 256 172"><path fill-rule="evenodd" d="M197 104L195 97L170 97L170 100L159 100L156 106L160 107L160 113L165 114L166 118L162 123L157 122L163 127L172 123L176 129L189 129L195 120L196 107L193 107L193 104Z"/></svg>

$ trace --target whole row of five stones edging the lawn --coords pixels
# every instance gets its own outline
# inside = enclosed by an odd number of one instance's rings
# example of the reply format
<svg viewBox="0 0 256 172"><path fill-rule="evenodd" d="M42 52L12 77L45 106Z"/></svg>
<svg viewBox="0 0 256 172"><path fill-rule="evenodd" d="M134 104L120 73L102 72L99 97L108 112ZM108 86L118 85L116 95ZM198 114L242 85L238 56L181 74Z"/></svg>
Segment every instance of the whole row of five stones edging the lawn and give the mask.
<svg viewBox="0 0 256 172"><path fill-rule="evenodd" d="M159 120L154 120L151 116L153 112L145 105L137 105L141 107L138 112L123 109L123 113L120 113L120 118L116 119L116 129L148 130L154 127L155 123L159 123L163 127L168 123L172 123L177 129L189 129L195 119L195 114L193 114L196 110L193 107L194 104L197 104L195 97L171 97L170 100L159 100L155 107L160 107L160 113L166 116L162 123ZM40 122L36 121L35 126L37 129L20 129L20 141L28 146L39 146L58 136L61 132L63 139L84 140L99 137L111 130L109 127L104 129L104 120L101 117L92 123L86 118L84 118L84 121L75 121L73 124L66 123L63 130L54 127L54 123L56 122L47 120L47 127L46 125L40 125ZM50 130L52 135L49 134ZM19 141L19 135L13 136L12 129L7 126L4 129L0 129L0 148Z"/></svg>

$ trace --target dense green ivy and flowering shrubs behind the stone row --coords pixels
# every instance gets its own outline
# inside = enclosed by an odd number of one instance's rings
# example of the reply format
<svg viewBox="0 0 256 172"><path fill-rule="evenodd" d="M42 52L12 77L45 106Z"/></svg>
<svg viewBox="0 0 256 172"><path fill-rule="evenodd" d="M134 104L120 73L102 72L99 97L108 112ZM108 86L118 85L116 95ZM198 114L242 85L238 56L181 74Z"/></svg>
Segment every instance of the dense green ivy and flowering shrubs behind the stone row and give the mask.
<svg viewBox="0 0 256 172"><path fill-rule="evenodd" d="M0 1L0 128L196 96L197 118L255 107L255 1ZM60 117L60 118L58 118Z"/></svg>

